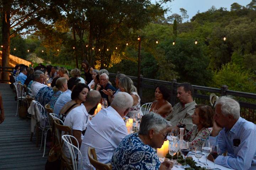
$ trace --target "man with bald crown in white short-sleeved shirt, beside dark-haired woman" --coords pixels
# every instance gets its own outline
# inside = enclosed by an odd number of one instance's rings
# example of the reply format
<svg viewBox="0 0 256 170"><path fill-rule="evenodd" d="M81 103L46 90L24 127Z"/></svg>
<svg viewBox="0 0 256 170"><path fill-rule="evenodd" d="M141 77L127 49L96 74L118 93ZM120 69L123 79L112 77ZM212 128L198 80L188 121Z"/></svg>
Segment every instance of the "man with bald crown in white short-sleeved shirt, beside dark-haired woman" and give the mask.
<svg viewBox="0 0 256 170"><path fill-rule="evenodd" d="M89 114L94 114L100 100L100 92L91 90L86 96L85 103L72 109L65 118L64 126L69 126L72 129L72 135L78 140L79 146L82 142L82 131L86 129L86 125L90 121ZM64 145L63 150L66 156L69 157L68 147Z"/></svg>

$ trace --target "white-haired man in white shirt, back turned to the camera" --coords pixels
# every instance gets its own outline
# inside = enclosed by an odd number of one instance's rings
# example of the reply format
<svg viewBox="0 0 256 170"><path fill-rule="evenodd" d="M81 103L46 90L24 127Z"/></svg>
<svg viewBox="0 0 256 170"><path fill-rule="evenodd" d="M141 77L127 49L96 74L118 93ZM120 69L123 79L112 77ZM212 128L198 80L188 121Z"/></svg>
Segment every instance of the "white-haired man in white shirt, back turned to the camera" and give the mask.
<svg viewBox="0 0 256 170"><path fill-rule="evenodd" d="M126 92L119 92L114 97L110 107L102 109L92 118L87 125L80 148L83 170L91 169L87 156L89 146L95 148L99 162L105 164L110 162L119 143L128 135L123 118L127 115L132 105L132 96Z"/></svg>

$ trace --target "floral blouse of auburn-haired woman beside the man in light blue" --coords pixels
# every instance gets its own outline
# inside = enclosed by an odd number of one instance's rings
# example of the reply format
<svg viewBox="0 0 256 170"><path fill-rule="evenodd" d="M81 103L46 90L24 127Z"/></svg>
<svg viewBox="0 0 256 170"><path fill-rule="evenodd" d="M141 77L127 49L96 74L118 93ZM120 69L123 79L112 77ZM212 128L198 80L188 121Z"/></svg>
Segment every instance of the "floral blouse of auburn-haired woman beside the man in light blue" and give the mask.
<svg viewBox="0 0 256 170"><path fill-rule="evenodd" d="M191 131L189 131L185 136L184 140L190 142L190 147L202 147L203 142L208 140L210 133L212 132L212 128L202 128L198 132L197 125L193 125Z"/></svg>

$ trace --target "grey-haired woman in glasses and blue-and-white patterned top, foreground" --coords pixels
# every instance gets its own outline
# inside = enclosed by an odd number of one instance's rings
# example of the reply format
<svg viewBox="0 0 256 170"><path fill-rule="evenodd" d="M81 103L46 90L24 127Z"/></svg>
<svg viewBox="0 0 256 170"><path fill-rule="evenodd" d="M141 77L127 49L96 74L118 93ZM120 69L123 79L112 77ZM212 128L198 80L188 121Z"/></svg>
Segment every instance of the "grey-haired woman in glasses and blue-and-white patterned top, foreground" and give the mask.
<svg viewBox="0 0 256 170"><path fill-rule="evenodd" d="M113 170L120 169L170 169L171 162L160 163L154 148L161 148L166 137L168 123L159 114L142 117L138 133L126 136L117 147L111 160Z"/></svg>

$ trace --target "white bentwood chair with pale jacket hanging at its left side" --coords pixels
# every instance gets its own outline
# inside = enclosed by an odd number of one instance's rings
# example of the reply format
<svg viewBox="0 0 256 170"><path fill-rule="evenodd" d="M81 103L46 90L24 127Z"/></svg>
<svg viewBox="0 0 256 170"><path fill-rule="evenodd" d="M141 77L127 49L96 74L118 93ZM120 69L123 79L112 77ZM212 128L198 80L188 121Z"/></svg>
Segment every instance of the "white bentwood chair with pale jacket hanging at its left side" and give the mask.
<svg viewBox="0 0 256 170"><path fill-rule="evenodd" d="M46 149L46 137L47 137L47 132L50 129L50 127L49 127L49 125L47 125L48 120L47 120L46 115L44 114L44 112L45 112L44 107L37 101L34 104L37 105L37 107L39 108L39 111L40 111L40 123L37 124L37 128L42 130L41 146L40 146L39 150L41 150L41 148L42 148L43 137L44 137L44 153L43 153L43 157L44 157L45 149ZM37 131L37 135L38 135L38 131Z"/></svg>

